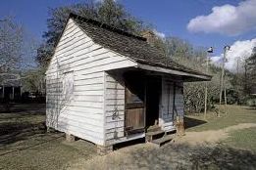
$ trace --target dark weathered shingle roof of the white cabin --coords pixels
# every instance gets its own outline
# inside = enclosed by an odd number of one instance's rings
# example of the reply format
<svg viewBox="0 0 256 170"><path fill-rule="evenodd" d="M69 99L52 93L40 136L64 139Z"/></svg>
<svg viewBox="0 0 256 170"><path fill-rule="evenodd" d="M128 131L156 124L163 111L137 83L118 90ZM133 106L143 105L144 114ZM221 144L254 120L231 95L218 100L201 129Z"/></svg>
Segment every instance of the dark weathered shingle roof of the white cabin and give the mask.
<svg viewBox="0 0 256 170"><path fill-rule="evenodd" d="M139 64L149 64L198 75L206 75L175 63L170 57L166 57L157 48L149 45L146 38L130 34L100 21L79 17L75 14L71 14L70 18L72 18L95 43L122 54Z"/></svg>

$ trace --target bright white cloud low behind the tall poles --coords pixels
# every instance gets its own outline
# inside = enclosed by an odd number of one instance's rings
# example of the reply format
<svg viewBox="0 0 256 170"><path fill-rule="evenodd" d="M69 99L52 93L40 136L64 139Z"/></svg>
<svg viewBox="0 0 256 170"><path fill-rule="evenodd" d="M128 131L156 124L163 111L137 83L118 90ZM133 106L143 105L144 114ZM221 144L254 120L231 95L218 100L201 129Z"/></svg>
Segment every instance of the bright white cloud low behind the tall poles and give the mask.
<svg viewBox="0 0 256 170"><path fill-rule="evenodd" d="M239 67L244 64L244 60L252 55L253 48L256 47L256 38L244 41L235 41L230 46L230 51L227 53L228 62L225 67L230 71L236 70L237 61ZM220 56L215 56L211 58L214 64L220 64L223 59L224 54Z"/></svg>

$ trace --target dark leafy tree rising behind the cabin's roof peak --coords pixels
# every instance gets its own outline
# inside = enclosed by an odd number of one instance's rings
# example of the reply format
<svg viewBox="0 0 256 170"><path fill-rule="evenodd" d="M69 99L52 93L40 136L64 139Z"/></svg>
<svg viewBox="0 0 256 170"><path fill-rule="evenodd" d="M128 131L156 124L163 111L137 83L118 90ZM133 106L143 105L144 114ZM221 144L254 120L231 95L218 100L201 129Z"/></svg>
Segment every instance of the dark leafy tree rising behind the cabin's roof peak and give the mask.
<svg viewBox="0 0 256 170"><path fill-rule="evenodd" d="M37 62L47 65L53 55L54 45L64 29L70 13L81 17L102 21L117 28L138 34L143 23L131 17L124 7L114 0L104 0L101 3L87 1L86 3L51 9L50 18L47 20L48 30L44 32L44 43L37 50Z"/></svg>

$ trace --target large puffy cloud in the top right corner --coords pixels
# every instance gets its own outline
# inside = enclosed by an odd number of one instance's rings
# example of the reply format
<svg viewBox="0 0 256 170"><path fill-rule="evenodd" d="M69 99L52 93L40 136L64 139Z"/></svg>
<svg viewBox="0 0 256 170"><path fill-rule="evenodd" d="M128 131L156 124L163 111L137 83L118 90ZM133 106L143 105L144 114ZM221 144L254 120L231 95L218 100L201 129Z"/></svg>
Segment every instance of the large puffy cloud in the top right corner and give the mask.
<svg viewBox="0 0 256 170"><path fill-rule="evenodd" d="M256 30L256 0L246 0L237 6L213 7L208 16L198 16L190 20L187 29L191 32L221 33L238 35Z"/></svg>

